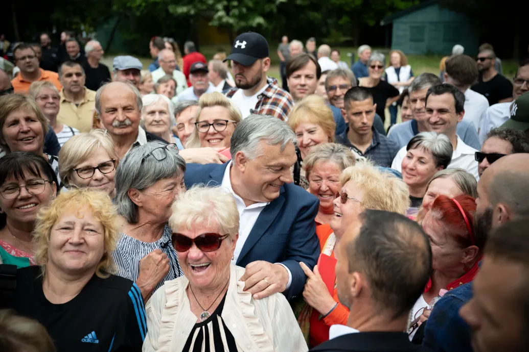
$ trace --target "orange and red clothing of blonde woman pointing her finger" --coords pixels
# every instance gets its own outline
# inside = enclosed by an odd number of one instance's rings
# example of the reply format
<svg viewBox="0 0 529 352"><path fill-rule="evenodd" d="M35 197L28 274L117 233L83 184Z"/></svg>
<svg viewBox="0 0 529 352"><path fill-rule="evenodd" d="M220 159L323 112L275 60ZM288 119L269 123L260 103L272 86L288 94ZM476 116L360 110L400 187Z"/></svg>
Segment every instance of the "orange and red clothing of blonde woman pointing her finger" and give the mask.
<svg viewBox="0 0 529 352"><path fill-rule="evenodd" d="M316 235L320 240L320 248L325 248L325 242L329 236L333 233L331 225L323 224L316 226ZM334 257L334 250L331 253L331 258ZM332 294L334 301L338 302L338 306L325 318L318 320L320 313L316 309L313 310L311 316L311 332L310 332L310 344L311 347L321 344L324 341L329 340L329 328L331 325L341 324L346 325L347 319L349 318L349 309L342 305L338 300L338 290L334 286Z"/></svg>

